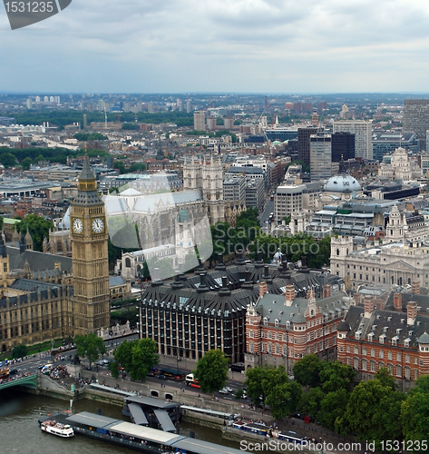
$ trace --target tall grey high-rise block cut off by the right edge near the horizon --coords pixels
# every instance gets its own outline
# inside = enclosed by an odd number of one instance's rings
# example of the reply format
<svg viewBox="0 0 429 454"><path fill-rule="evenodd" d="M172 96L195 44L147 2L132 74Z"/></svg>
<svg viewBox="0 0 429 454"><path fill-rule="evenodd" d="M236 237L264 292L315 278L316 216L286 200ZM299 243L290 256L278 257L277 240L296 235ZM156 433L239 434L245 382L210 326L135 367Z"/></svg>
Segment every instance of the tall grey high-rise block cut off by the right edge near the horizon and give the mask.
<svg viewBox="0 0 429 454"><path fill-rule="evenodd" d="M404 122L405 133L415 133L420 141L420 149L426 150L426 132L429 130L429 99L405 99Z"/></svg>

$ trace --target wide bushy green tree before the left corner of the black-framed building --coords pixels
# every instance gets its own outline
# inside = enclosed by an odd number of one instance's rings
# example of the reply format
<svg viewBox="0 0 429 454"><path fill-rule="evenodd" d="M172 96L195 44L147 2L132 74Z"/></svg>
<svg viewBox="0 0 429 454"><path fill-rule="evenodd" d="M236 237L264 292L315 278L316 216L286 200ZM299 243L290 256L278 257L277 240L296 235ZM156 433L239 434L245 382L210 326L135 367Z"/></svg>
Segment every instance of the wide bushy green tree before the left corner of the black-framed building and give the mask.
<svg viewBox="0 0 429 454"><path fill-rule="evenodd" d="M110 369L115 379L119 377L120 370L126 370L132 380L144 381L160 361L156 342L151 339L123 341L113 356Z"/></svg>

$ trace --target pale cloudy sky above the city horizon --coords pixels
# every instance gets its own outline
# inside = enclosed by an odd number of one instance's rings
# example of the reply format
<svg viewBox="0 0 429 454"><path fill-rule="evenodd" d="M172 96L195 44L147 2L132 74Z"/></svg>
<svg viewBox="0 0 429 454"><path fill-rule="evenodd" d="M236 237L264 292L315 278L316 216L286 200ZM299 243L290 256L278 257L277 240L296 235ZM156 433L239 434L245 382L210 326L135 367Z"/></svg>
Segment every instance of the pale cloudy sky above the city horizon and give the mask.
<svg viewBox="0 0 429 454"><path fill-rule="evenodd" d="M12 31L0 91L429 92L427 0L73 0Z"/></svg>

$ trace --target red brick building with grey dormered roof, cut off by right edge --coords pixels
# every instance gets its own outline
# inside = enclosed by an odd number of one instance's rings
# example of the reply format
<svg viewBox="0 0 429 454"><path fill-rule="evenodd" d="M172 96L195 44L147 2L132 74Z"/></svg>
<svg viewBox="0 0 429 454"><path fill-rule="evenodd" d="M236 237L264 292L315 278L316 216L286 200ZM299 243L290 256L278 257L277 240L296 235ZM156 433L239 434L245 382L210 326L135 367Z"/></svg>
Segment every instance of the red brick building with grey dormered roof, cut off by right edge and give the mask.
<svg viewBox="0 0 429 454"><path fill-rule="evenodd" d="M361 380L385 367L405 391L429 373L428 331L429 297L419 294L418 282L411 293L392 293L383 308L366 296L337 326L338 360L357 370Z"/></svg>

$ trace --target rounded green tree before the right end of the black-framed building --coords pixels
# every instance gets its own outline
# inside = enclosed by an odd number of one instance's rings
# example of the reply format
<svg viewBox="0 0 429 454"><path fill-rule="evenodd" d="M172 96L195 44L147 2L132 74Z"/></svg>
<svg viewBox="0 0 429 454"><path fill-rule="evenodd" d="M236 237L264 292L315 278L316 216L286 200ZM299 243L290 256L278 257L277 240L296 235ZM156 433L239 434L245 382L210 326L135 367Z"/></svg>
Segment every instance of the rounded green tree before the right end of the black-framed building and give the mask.
<svg viewBox="0 0 429 454"><path fill-rule="evenodd" d="M213 393L221 390L228 380L229 358L221 350L209 350L193 371L202 392Z"/></svg>

